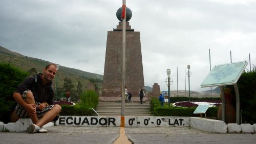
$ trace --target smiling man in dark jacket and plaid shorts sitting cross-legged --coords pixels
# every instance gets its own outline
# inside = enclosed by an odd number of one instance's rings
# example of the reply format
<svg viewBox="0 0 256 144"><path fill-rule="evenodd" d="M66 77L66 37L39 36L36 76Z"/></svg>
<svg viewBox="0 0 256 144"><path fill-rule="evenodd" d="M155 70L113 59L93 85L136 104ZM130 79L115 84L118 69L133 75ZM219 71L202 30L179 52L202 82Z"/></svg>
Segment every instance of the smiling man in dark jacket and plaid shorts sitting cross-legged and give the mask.
<svg viewBox="0 0 256 144"><path fill-rule="evenodd" d="M17 106L11 115L11 121L31 118L33 124L27 128L28 133L47 132L42 126L58 118L61 107L53 105L52 89L52 80L56 73L57 65L50 63L42 74L27 77L13 93Z"/></svg>

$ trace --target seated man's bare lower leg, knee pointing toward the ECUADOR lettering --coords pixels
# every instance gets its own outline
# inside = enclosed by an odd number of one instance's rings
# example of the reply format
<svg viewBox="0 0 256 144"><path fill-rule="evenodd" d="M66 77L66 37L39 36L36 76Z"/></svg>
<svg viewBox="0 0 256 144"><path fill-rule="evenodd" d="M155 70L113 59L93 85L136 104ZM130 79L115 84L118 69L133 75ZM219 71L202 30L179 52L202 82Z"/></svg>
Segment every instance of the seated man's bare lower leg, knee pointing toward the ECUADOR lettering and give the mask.
<svg viewBox="0 0 256 144"><path fill-rule="evenodd" d="M42 127L45 124L51 122L58 113L60 113L61 111L61 107L59 105L55 105L51 110L49 110L46 114L44 114L44 116L42 116L42 118L35 123L35 125Z"/></svg>

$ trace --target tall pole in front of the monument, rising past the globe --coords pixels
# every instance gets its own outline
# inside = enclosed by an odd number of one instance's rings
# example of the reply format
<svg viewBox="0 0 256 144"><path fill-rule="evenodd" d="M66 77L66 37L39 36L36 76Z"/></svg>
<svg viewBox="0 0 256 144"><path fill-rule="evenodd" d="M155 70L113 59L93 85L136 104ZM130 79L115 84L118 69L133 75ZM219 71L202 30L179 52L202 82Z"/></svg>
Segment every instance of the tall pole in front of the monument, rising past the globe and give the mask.
<svg viewBox="0 0 256 144"><path fill-rule="evenodd" d="M123 28L122 28L122 34L123 34L123 40L122 40L122 110L121 115L125 115L125 95L124 95L124 87L125 87L125 33L126 33L126 4L125 0L123 0L123 9L122 9L122 22L123 22Z"/></svg>

